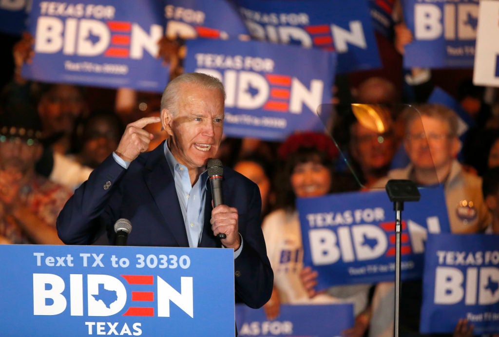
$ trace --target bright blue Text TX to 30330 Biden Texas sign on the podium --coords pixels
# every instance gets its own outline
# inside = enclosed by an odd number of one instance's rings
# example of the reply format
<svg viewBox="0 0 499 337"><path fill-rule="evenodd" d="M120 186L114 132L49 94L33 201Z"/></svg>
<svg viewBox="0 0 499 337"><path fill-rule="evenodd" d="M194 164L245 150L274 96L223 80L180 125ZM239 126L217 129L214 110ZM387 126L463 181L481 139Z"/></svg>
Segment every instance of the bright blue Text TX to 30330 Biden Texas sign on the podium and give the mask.
<svg viewBox="0 0 499 337"><path fill-rule="evenodd" d="M234 336L234 252L0 245L2 336Z"/></svg>

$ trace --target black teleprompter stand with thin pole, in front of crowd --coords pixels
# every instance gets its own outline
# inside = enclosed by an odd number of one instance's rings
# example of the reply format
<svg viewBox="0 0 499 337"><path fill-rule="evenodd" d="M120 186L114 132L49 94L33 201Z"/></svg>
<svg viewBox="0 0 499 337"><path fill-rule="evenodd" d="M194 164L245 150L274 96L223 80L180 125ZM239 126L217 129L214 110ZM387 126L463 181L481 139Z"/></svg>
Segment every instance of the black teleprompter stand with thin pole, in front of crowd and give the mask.
<svg viewBox="0 0 499 337"><path fill-rule="evenodd" d="M399 336L399 309L400 309L400 266L401 266L401 234L402 211L405 201L419 201L421 195L418 187L412 180L391 179L386 183L386 192L393 202L395 211L395 318L393 323L393 336Z"/></svg>

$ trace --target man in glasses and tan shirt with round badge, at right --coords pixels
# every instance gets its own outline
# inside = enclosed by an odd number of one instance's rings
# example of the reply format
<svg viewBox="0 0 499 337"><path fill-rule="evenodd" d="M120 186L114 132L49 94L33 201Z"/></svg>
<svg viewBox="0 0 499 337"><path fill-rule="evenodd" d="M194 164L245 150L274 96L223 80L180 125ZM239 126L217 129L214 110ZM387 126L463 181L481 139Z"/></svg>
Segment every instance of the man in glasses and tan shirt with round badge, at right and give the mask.
<svg viewBox="0 0 499 337"><path fill-rule="evenodd" d="M461 148L456 113L443 105L424 104L407 108L404 117L404 148L411 163L404 169L391 170L376 186L383 187L389 179L411 179L419 186L443 184L451 232L483 232L490 223L490 214L482 195L482 179L465 171L456 160ZM439 206L443 205L435 205ZM377 285L370 336L392 336L394 313L388 309L393 299L393 283ZM402 336L420 336L421 302L421 280L405 281L400 300Z"/></svg>

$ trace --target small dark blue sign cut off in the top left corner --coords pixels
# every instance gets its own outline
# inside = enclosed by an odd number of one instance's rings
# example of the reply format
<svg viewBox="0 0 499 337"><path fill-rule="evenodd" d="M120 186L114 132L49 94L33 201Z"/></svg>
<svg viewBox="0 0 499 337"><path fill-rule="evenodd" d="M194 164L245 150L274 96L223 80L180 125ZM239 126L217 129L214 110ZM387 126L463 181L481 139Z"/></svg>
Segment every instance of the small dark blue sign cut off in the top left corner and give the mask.
<svg viewBox="0 0 499 337"><path fill-rule="evenodd" d="M26 30L31 0L0 1L0 32L21 35Z"/></svg>

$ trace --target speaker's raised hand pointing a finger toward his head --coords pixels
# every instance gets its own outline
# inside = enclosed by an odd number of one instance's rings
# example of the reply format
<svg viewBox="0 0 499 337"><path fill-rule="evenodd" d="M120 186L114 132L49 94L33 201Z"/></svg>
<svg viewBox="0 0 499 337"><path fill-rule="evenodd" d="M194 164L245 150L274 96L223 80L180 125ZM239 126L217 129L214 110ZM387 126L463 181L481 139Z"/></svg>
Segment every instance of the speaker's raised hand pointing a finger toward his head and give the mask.
<svg viewBox="0 0 499 337"><path fill-rule="evenodd" d="M144 130L144 127L159 122L161 122L161 118L153 116L144 117L128 124L115 151L116 155L126 162L131 162L142 152L146 152L154 136Z"/></svg>

